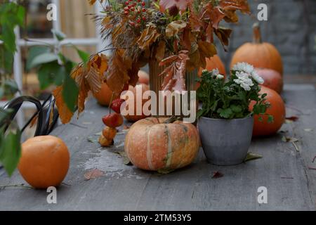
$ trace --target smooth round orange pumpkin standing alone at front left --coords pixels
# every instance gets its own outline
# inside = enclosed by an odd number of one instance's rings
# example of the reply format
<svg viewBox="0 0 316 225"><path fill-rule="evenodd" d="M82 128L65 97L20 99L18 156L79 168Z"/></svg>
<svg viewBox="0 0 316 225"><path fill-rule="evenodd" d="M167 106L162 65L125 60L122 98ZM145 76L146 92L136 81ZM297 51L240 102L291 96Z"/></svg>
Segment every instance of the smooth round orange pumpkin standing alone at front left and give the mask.
<svg viewBox="0 0 316 225"><path fill-rule="evenodd" d="M18 169L34 188L59 186L65 179L69 165L68 148L55 136L37 136L22 143Z"/></svg>

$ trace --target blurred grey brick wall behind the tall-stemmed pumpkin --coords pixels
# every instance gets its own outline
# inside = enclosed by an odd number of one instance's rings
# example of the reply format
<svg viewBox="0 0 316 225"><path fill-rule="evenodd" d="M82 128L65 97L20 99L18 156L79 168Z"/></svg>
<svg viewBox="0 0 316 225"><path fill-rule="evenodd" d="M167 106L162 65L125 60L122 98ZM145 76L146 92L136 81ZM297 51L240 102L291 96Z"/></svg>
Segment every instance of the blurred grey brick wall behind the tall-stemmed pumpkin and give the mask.
<svg viewBox="0 0 316 225"><path fill-rule="evenodd" d="M274 44L282 55L286 75L316 75L316 0L249 0L252 15L240 15L230 39L229 51L219 49L225 65L232 53L252 40L251 27L258 21L258 4L268 5L268 21L261 22L263 41Z"/></svg>

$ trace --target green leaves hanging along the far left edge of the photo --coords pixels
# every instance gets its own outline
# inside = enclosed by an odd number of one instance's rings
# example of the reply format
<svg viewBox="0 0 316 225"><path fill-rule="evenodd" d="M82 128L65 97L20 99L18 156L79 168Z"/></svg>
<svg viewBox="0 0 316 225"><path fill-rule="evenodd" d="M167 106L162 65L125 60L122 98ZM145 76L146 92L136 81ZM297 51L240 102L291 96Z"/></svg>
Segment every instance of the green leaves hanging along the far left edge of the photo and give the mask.
<svg viewBox="0 0 316 225"><path fill-rule="evenodd" d="M23 27L25 8L20 4L1 1L0 5L0 99L11 98L18 90L12 79L13 57L16 51L15 32L17 25ZM12 110L0 108L0 163L11 175L20 159L20 130L10 127Z"/></svg>

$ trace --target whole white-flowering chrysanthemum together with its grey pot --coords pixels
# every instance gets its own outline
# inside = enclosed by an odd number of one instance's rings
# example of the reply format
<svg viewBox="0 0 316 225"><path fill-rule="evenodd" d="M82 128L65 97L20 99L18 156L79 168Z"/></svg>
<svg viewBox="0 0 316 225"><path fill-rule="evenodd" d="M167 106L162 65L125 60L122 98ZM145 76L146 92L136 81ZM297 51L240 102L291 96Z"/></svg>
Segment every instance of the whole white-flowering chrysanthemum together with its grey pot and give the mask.
<svg viewBox="0 0 316 225"><path fill-rule="evenodd" d="M214 165L237 165L246 158L254 126L253 115L265 115L270 106L259 94L263 79L254 67L237 63L228 81L218 70L204 70L197 98L202 102L198 128L206 158ZM251 101L255 102L249 110ZM270 122L273 118L269 117Z"/></svg>

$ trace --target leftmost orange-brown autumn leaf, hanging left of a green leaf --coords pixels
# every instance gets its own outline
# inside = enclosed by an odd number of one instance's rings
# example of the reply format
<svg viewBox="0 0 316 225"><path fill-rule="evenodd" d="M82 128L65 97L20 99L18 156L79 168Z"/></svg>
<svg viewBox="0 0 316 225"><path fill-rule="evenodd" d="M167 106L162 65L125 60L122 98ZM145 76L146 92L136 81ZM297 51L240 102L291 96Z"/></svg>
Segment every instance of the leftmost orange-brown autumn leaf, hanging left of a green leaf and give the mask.
<svg viewBox="0 0 316 225"><path fill-rule="evenodd" d="M69 110L64 99L62 98L62 86L58 86L53 91L53 96L55 97L60 120L63 124L67 124L68 122L70 122L70 120L72 120L72 116L74 115L74 113Z"/></svg>

